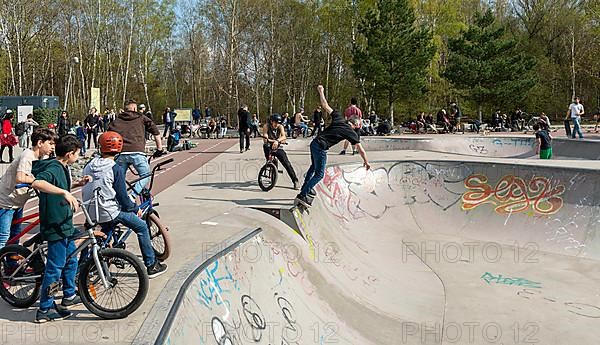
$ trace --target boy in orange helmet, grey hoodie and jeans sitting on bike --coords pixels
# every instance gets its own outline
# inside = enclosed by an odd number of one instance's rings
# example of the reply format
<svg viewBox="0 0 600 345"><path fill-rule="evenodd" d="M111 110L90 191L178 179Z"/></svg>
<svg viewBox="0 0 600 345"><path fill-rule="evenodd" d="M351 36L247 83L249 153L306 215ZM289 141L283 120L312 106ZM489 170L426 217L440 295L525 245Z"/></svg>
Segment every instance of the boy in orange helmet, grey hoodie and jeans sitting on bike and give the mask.
<svg viewBox="0 0 600 345"><path fill-rule="evenodd" d="M108 232L117 224L122 224L137 234L148 277L154 278L167 271L167 265L160 263L152 249L150 230L140 218L141 211L127 195L125 171L115 163L115 156L123 149L123 137L117 132L105 132L98 139L102 157L92 159L83 168L84 175L90 175L92 182L82 190L83 201L90 217L102 225ZM94 191L100 188L98 200ZM98 201L98 214L95 203Z"/></svg>

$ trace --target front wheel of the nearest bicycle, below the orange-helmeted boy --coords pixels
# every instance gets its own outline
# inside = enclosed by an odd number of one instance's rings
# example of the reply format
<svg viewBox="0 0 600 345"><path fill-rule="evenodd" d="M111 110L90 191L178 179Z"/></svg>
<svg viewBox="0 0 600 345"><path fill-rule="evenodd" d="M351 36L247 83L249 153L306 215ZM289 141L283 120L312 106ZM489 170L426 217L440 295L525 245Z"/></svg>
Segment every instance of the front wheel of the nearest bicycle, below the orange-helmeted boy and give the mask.
<svg viewBox="0 0 600 345"><path fill-rule="evenodd" d="M148 273L132 253L115 248L98 253L108 288L104 286L93 258L79 272L79 295L85 307L103 319L121 319L136 311L148 294Z"/></svg>

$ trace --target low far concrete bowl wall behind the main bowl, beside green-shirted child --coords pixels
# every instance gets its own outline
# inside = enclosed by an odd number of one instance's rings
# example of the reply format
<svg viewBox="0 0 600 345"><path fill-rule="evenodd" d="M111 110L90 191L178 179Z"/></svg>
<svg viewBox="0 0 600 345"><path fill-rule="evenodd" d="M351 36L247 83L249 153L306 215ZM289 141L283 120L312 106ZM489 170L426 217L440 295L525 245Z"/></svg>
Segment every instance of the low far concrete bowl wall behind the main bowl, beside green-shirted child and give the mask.
<svg viewBox="0 0 600 345"><path fill-rule="evenodd" d="M364 137L367 151L423 150L492 158L536 158L535 137L530 136L458 136ZM554 138L556 159L600 159L600 142Z"/></svg>

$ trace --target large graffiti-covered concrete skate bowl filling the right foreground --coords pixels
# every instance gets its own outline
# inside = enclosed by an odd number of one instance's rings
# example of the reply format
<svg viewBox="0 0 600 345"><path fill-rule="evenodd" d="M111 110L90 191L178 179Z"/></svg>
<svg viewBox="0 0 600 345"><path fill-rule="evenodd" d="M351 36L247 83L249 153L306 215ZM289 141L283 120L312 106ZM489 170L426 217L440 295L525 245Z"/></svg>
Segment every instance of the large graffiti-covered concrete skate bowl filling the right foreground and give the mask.
<svg viewBox="0 0 600 345"><path fill-rule="evenodd" d="M597 344L594 170L457 162L327 169L292 224L198 266L160 344ZM173 292L171 292L173 294ZM142 333L142 332L140 332Z"/></svg>

